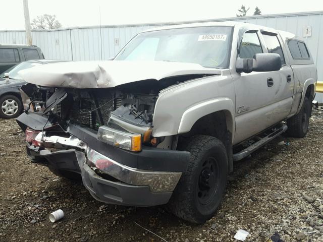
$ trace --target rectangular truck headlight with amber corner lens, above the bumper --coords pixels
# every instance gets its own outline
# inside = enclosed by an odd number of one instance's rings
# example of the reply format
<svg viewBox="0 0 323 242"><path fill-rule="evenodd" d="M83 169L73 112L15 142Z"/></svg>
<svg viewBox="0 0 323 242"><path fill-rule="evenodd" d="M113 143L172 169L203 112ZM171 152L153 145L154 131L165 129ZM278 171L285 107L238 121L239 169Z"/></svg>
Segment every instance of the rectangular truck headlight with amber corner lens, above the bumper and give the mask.
<svg viewBox="0 0 323 242"><path fill-rule="evenodd" d="M101 126L97 132L97 139L122 149L141 151L141 134L131 134Z"/></svg>

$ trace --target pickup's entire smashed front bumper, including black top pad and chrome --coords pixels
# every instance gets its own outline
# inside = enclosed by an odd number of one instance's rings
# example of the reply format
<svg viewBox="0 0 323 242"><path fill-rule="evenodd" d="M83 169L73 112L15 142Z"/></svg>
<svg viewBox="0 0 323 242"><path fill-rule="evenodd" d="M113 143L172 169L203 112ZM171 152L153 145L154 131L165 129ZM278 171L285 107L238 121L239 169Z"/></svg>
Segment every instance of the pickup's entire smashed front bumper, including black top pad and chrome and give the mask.
<svg viewBox="0 0 323 242"><path fill-rule="evenodd" d="M59 124L41 113L23 113L17 123L37 134L35 142L27 143L32 162L82 175L90 194L105 203L166 204L189 163L187 151L143 146L131 152L99 141L95 130L73 122Z"/></svg>

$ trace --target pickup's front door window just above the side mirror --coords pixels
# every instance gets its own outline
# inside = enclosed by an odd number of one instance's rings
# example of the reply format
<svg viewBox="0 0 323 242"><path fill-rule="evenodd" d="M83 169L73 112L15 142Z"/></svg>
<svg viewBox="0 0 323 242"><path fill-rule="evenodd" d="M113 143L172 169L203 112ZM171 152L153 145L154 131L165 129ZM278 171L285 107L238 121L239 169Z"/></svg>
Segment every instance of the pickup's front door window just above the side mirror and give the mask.
<svg viewBox="0 0 323 242"><path fill-rule="evenodd" d="M254 54L263 53L256 32L246 32L243 34L238 52L240 58L253 58Z"/></svg>

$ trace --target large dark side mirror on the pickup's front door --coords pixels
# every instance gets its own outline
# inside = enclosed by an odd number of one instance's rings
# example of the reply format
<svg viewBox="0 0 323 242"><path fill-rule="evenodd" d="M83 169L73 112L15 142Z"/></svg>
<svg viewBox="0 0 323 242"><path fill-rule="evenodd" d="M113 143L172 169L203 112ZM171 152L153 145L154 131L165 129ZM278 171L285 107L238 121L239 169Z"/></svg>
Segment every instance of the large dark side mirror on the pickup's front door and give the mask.
<svg viewBox="0 0 323 242"><path fill-rule="evenodd" d="M255 54L253 58L237 58L237 73L250 72L273 72L282 68L282 61L279 54L264 53Z"/></svg>

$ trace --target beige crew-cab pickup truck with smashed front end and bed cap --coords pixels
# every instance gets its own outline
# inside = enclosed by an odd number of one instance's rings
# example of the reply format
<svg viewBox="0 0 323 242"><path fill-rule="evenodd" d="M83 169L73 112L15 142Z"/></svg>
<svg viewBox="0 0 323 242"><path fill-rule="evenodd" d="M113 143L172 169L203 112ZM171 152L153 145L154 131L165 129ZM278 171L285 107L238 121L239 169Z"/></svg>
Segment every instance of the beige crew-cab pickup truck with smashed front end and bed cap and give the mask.
<svg viewBox="0 0 323 242"><path fill-rule="evenodd" d="M81 175L101 202L168 204L194 223L216 212L234 161L305 136L317 79L293 34L235 22L147 30L112 61L20 75L32 162Z"/></svg>

